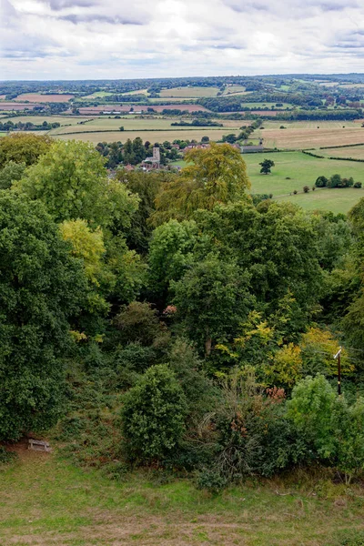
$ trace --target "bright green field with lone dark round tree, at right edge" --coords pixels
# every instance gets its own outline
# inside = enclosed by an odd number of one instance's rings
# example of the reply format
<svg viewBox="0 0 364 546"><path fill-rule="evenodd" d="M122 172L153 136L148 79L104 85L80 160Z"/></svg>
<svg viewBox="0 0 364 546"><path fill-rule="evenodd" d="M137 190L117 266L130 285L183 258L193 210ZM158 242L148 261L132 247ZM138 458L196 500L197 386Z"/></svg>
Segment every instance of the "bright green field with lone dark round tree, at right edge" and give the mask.
<svg viewBox="0 0 364 546"><path fill-rule="evenodd" d="M308 208L325 208L333 212L348 212L360 197L364 197L364 188L316 189L305 195L293 195L293 191L302 191L304 186L314 186L317 177L330 177L336 173L343 177L353 177L364 182L361 163L334 161L306 156L301 152L281 152L276 154L244 154L248 167L248 176L252 183L252 193L273 194L291 200ZM263 159L272 159L276 166L271 175L259 173L259 163ZM289 177L290 179L287 179ZM289 194L292 193L291 196Z"/></svg>

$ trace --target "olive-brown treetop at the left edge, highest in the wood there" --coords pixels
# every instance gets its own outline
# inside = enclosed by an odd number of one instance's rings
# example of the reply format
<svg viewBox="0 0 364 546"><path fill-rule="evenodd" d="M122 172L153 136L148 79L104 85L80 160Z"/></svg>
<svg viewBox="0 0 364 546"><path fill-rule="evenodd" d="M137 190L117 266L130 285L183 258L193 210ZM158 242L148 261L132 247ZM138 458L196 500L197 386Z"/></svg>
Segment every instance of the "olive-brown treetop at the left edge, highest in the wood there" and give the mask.
<svg viewBox="0 0 364 546"><path fill-rule="evenodd" d="M38 158L51 147L49 136L15 133L0 140L0 167L5 163L25 163L26 166L36 163Z"/></svg>

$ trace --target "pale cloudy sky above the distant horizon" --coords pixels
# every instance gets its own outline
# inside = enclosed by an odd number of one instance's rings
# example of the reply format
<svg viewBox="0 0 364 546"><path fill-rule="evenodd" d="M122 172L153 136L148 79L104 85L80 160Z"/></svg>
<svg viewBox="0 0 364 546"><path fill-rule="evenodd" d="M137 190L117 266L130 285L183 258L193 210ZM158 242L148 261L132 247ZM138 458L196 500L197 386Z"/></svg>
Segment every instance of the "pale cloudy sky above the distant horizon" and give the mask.
<svg viewBox="0 0 364 546"><path fill-rule="evenodd" d="M364 71L364 0L0 0L0 79Z"/></svg>

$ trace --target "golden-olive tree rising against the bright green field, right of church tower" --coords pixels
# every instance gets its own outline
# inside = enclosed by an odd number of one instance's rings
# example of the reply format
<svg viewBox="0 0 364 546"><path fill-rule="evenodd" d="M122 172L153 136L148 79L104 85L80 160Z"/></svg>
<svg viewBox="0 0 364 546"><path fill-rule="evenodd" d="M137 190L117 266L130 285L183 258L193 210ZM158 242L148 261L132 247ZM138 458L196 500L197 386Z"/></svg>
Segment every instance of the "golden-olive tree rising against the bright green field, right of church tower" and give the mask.
<svg viewBox="0 0 364 546"><path fill-rule="evenodd" d="M205 149L192 149L185 159L191 165L164 184L156 198L151 217L160 225L171 217L185 219L197 208L211 210L217 203L237 201L250 188L246 164L237 148L211 143Z"/></svg>

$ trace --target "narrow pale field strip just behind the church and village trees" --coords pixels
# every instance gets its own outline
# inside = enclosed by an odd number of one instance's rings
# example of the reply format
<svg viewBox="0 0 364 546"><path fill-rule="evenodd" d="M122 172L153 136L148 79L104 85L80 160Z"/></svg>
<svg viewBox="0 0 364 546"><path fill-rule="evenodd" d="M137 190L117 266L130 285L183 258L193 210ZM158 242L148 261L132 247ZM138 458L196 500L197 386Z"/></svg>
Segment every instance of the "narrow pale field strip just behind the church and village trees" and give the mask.
<svg viewBox="0 0 364 546"><path fill-rule="evenodd" d="M120 122L119 125L123 125L121 122L122 120L118 120ZM93 130L91 127L86 124L85 130ZM189 140L196 139L197 141L200 141L202 136L209 136L210 140L219 140L223 135L227 135L228 133L238 133L238 131L234 131L230 128L221 128L221 127L206 127L205 129L194 129L191 127L171 127L170 130L135 130L135 131L106 131L106 132L96 132L96 133L74 133L71 135L55 135L52 133L52 136L55 136L56 138L62 138L64 140L69 140L76 138L77 140L83 140L88 142L93 142L94 144L97 144L97 142L125 142L127 138L131 138L132 140L136 138L136 136L140 136L143 141L145 142L148 140L149 142L164 142L165 140L168 140L169 142L173 142L175 139L183 139L187 138Z"/></svg>

